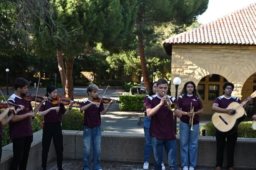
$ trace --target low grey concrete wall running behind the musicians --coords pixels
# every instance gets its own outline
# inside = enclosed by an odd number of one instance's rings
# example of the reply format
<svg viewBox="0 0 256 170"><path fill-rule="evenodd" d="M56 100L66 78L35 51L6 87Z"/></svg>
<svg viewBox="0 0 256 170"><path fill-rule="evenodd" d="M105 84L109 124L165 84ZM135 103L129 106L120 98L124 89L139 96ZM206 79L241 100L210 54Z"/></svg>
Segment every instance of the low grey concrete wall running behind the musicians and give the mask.
<svg viewBox="0 0 256 170"><path fill-rule="evenodd" d="M83 159L83 131L63 130L63 158ZM177 164L180 165L180 142L177 135ZM256 169L254 158L256 152L253 148L256 138L238 138L235 148L235 168ZM153 151L152 151L153 152ZM226 166L227 151L224 151L223 166ZM28 170L37 170L41 167L42 154L42 130L34 133L28 159ZM3 147L0 169L9 169L12 161L12 143ZM51 144L48 154L48 162L56 158L55 148ZM144 134L102 132L101 159L113 161L144 161ZM197 154L197 165L215 166L216 161L216 139L212 136L199 136ZM154 162L151 153L150 162ZM164 162L167 162L166 154Z"/></svg>

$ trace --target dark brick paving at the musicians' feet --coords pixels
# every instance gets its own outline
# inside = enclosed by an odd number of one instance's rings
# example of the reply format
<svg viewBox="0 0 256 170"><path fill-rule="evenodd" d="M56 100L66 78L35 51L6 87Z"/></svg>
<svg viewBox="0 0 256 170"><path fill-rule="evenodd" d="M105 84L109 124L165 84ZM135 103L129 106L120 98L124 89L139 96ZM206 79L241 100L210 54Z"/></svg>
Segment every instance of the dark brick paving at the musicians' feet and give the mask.
<svg viewBox="0 0 256 170"><path fill-rule="evenodd" d="M167 166L167 163L165 163ZM82 160L64 159L64 170L82 170ZM101 161L102 170L143 170L143 162L117 162L117 161ZM196 170L214 170L214 167L198 167ZM47 164L47 170L58 170L56 160ZM154 170L154 163L149 163L149 170ZM166 167L169 170L169 167ZM178 167L178 170L182 170L182 167Z"/></svg>

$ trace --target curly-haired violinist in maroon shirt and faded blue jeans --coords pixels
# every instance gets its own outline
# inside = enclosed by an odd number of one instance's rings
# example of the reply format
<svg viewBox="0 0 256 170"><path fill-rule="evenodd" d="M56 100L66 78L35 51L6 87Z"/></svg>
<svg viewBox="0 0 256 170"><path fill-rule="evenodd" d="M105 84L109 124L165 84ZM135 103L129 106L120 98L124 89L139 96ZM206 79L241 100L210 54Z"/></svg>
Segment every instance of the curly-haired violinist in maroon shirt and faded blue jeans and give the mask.
<svg viewBox="0 0 256 170"><path fill-rule="evenodd" d="M112 99L104 109L103 103L93 102L98 97L98 86L90 84L87 87L88 99L80 106L81 113L84 112L84 134L83 134L83 170L91 168L91 148L93 146L93 167L101 170L100 166L100 142L101 142L101 119L100 113L106 114L111 104L116 102Z"/></svg>

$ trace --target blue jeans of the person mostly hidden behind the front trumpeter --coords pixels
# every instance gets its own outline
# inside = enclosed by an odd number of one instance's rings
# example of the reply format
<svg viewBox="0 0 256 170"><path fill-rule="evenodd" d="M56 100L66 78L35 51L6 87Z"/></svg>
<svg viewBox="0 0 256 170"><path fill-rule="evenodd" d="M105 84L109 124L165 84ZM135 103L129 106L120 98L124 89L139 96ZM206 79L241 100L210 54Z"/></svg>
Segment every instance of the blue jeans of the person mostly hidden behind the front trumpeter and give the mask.
<svg viewBox="0 0 256 170"><path fill-rule="evenodd" d="M151 121L151 118L146 116L143 123L144 135L145 135L144 162L149 162L149 158L152 150L151 136L149 134L150 121ZM164 147L163 147L162 162L164 162Z"/></svg>

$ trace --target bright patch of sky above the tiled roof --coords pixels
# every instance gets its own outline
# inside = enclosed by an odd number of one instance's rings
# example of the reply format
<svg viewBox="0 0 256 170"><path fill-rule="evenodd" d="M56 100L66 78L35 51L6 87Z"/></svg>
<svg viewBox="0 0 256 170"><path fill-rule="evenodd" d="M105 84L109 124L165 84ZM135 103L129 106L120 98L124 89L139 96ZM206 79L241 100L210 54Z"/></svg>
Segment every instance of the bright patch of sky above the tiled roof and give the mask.
<svg viewBox="0 0 256 170"><path fill-rule="evenodd" d="M255 2L256 0L209 0L207 10L197 20L201 24L207 24Z"/></svg>

